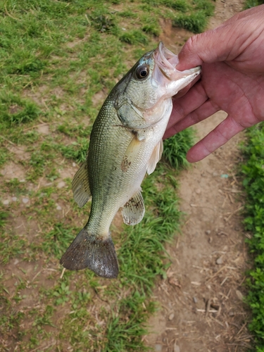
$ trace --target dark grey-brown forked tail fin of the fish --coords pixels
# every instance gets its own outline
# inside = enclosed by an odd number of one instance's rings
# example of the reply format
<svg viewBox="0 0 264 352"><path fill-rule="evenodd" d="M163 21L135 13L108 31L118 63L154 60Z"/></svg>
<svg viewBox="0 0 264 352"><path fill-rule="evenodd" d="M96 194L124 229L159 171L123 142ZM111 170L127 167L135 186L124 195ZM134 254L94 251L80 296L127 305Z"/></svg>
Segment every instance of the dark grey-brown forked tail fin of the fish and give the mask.
<svg viewBox="0 0 264 352"><path fill-rule="evenodd" d="M88 234L85 227L63 254L61 265L69 270L89 268L101 277L118 276L118 259L111 237L101 239Z"/></svg>

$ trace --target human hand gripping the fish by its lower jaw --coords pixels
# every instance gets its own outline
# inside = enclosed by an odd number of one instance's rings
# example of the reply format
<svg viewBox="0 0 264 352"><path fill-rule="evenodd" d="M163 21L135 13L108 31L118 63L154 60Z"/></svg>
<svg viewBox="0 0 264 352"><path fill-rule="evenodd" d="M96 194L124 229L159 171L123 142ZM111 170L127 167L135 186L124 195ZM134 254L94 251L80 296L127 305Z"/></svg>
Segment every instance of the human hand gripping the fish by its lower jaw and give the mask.
<svg viewBox="0 0 264 352"><path fill-rule="evenodd" d="M216 111L227 118L187 153L199 161L246 127L264 120L264 5L234 15L215 30L191 37L177 70L201 65L201 80L173 99L164 138L205 120Z"/></svg>

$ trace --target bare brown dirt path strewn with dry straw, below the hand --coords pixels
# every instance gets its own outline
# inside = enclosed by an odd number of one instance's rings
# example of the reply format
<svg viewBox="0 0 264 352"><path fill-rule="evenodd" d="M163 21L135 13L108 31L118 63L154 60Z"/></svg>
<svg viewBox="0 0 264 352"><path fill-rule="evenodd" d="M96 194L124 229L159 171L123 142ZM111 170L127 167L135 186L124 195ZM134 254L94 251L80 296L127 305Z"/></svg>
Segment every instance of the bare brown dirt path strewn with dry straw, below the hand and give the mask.
<svg viewBox="0 0 264 352"><path fill-rule="evenodd" d="M242 2L218 0L210 28L241 11ZM165 26L163 41L182 36ZM226 116L220 111L197 125L201 138ZM240 210L244 195L235 175L241 160L240 134L180 176L181 208L186 214L182 236L167 246L172 258L168 278L154 298L160 309L149 320L145 341L162 352L241 352L251 347L246 329L250 315L243 303L249 268Z"/></svg>

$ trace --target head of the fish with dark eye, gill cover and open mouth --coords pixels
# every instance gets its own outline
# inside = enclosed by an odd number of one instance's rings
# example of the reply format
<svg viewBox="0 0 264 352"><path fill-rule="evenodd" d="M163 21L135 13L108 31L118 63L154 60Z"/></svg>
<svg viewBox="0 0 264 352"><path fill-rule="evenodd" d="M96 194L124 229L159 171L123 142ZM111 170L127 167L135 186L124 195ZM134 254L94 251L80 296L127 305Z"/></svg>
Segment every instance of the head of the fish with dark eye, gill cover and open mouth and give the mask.
<svg viewBox="0 0 264 352"><path fill-rule="evenodd" d="M200 66L179 71L176 69L177 63L178 56L160 42L130 70L125 94L130 97L133 107L140 111L146 125L158 122L166 104L171 105L171 97L201 73Z"/></svg>

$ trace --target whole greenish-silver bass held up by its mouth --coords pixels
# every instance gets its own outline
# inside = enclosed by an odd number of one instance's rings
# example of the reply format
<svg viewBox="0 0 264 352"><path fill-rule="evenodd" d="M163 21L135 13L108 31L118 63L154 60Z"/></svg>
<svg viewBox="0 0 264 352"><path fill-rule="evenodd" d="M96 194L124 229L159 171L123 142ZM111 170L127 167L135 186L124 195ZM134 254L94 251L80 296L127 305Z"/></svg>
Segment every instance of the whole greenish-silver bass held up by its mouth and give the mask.
<svg viewBox="0 0 264 352"><path fill-rule="evenodd" d="M179 71L178 62L160 42L122 77L101 106L87 159L72 182L78 206L92 197L89 219L63 254L64 268L89 268L100 277L118 277L111 222L119 209L126 225L142 221L141 184L161 159L172 96L201 73L200 66Z"/></svg>

